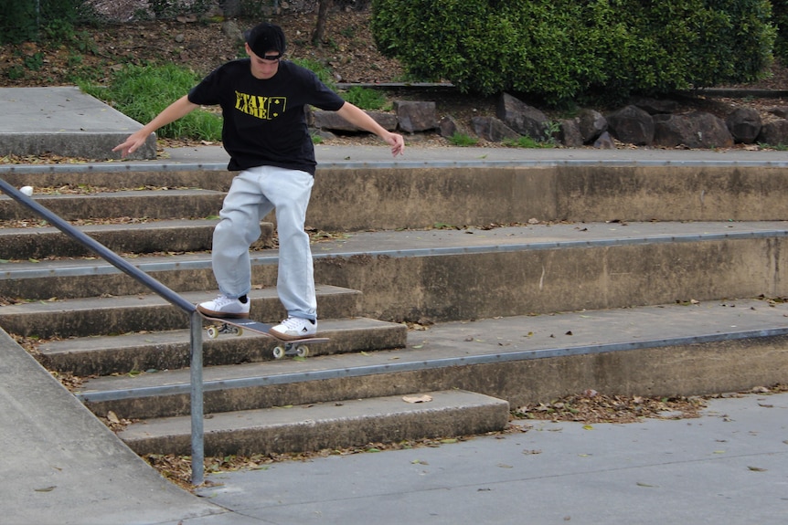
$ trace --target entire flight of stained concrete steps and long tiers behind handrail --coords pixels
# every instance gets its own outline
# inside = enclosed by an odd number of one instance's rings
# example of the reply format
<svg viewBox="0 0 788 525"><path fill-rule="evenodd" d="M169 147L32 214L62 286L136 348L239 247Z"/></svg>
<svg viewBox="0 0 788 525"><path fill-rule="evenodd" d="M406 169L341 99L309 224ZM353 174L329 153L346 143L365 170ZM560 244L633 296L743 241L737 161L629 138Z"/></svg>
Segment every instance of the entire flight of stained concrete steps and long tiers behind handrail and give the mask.
<svg viewBox="0 0 788 525"><path fill-rule="evenodd" d="M4 178L101 188L35 199L68 220L133 217L80 228L188 301L214 297L211 234L231 173L70 168ZM786 175L724 162L321 167L307 226L330 232L313 253L331 341L275 361L267 338L205 337L206 454L485 433L510 407L587 388L784 383ZM0 297L24 299L0 307L0 327L43 340L49 370L86 378L76 395L96 415L133 421L119 436L135 452L189 454L186 314L5 196L0 218L28 223L0 229ZM262 231L251 317L275 322L274 226ZM733 326L733 303L735 322L760 324ZM568 342L580 318L599 319L599 334ZM501 341L463 331L485 322L503 323ZM646 328L663 335L635 333Z"/></svg>

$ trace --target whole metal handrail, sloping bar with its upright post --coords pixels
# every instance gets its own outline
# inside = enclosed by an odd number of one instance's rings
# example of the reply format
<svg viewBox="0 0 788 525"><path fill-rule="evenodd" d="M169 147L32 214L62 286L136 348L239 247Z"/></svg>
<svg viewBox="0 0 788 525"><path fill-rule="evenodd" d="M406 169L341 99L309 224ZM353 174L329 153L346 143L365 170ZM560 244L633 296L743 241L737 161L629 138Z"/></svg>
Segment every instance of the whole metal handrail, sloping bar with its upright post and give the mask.
<svg viewBox="0 0 788 525"><path fill-rule="evenodd" d="M115 268L151 289L161 298L172 303L189 315L190 326L190 383L191 383L191 447L192 447L192 484L201 485L205 475L205 447L203 429L203 349L202 349L202 317L197 312L195 305L184 299L176 291L167 288L158 280L152 278L144 271L134 267L126 259L105 247L91 236L86 235L59 215L54 214L42 205L39 205L26 194L18 191L13 185L0 178L0 190L24 205L37 215L44 217L49 224L57 227L61 232L79 242L103 258Z"/></svg>

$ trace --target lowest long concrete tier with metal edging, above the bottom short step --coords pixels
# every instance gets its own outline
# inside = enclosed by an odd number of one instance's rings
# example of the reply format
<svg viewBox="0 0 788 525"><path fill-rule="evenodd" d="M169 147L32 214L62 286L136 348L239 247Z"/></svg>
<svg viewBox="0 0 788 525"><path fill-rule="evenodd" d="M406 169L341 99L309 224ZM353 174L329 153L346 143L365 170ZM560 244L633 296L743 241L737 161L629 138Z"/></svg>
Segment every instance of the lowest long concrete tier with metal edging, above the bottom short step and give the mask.
<svg viewBox="0 0 788 525"><path fill-rule="evenodd" d="M788 383L788 303L729 299L446 322L380 352L250 362L204 371L208 413L460 388L513 405L588 389L697 395ZM89 378L97 415L186 415L189 371ZM156 397L155 402L148 398Z"/></svg>

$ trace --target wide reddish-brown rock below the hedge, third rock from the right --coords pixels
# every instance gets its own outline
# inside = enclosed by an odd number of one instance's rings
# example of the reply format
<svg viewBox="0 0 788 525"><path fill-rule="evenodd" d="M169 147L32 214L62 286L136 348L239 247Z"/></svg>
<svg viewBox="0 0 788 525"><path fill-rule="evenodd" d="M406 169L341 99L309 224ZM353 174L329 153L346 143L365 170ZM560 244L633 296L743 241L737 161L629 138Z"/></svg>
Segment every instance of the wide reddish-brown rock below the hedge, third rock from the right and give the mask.
<svg viewBox="0 0 788 525"><path fill-rule="evenodd" d="M733 136L725 121L705 111L687 115L655 115L654 143L674 148L690 149L729 148Z"/></svg>

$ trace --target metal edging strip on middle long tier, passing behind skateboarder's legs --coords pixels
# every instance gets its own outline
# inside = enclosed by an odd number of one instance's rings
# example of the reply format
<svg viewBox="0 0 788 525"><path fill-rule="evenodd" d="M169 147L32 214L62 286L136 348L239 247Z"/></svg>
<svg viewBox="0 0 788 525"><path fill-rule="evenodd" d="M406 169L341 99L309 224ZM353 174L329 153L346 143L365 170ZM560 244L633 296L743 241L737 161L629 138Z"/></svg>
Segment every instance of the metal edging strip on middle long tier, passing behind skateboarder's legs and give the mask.
<svg viewBox="0 0 788 525"><path fill-rule="evenodd" d="M658 235L658 236L639 236L630 238L610 238L595 239L587 241L551 241L518 243L512 245L483 245L478 247L429 247L429 248L410 248L410 249L381 249L381 250L355 250L355 251L336 251L332 253L313 254L314 260L335 258L335 257L436 257L453 256L482 253L507 253L526 250L548 250L558 248L591 248L591 247L612 247L612 246L635 246L662 243L688 243L699 241L721 241L721 240L741 240L758 239L768 237L786 237L786 230L763 230L749 232L733 232L724 234L688 234L688 235ZM251 257L253 266L275 265L279 262L276 255ZM210 269L211 261L209 257L192 261L177 262L151 262L138 263L134 265L146 273L188 270L188 269ZM18 270L6 270L0 272L0 280L22 279L22 278L55 278L55 277L80 277L90 275L109 275L119 273L117 268L112 265L92 265L92 266L69 266L66 268L26 268Z"/></svg>

